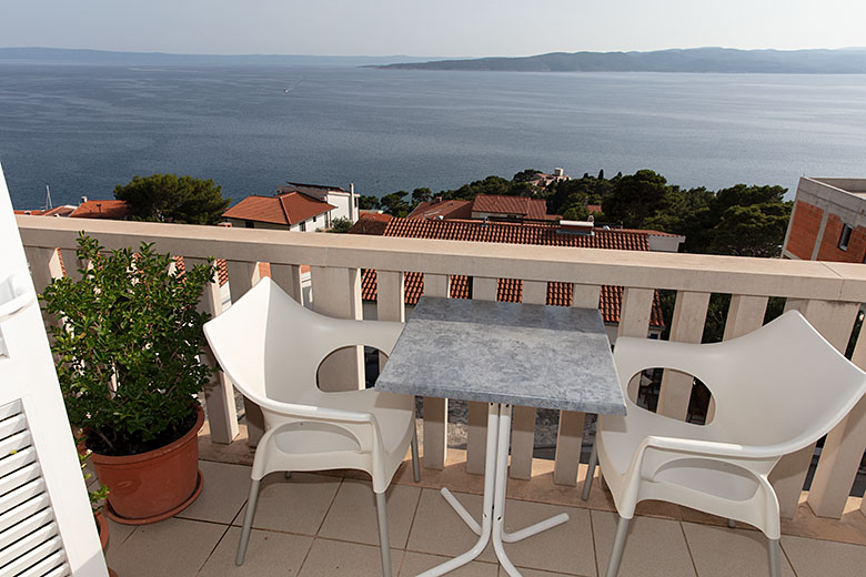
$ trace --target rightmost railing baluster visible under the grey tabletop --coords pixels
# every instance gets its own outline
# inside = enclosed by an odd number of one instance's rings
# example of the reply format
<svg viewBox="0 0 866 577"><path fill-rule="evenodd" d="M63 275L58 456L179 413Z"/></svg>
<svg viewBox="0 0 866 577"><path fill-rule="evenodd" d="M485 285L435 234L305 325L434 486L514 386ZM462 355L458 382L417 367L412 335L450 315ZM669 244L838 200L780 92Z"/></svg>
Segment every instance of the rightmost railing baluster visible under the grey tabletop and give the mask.
<svg viewBox="0 0 866 577"><path fill-rule="evenodd" d="M602 287L590 284L575 284L572 293L572 306L597 308ZM647 325L648 325L647 317ZM577 472L583 449L583 413L560 411L560 425L556 431L556 455L553 464L553 482L556 485L574 487L577 485Z"/></svg>

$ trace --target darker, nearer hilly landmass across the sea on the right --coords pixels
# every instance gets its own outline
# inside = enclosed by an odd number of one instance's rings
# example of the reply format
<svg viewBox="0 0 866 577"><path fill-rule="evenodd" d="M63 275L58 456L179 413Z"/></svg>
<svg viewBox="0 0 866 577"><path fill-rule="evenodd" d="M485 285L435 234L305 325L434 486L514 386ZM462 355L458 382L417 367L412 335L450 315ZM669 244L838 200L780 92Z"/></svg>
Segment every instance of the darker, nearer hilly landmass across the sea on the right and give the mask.
<svg viewBox="0 0 866 577"><path fill-rule="evenodd" d="M693 48L654 52L551 52L521 58L477 58L377 65L410 70L515 72L755 72L864 74L866 48L839 50L734 50Z"/></svg>

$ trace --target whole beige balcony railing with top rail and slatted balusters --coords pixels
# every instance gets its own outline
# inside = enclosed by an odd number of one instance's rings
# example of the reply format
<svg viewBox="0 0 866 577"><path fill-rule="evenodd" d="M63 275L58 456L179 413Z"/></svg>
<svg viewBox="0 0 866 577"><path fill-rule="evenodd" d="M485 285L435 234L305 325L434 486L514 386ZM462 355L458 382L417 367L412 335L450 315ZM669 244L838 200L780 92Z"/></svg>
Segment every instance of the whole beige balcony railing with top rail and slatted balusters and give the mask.
<svg viewBox="0 0 866 577"><path fill-rule="evenodd" d="M602 285L623 286L618 335L646 336L654 290L676 291L671 340L699 342L712 293L731 294L724 338L747 333L763 323L771 296L786 298L840 351L845 351L866 302L866 266L849 263L783 261L605 251L551 246L483 244L345 234L313 234L283 231L223 229L117 222L98 220L19 216L18 224L37 290L61 274L57 249L67 271L74 274L78 232L83 230L107 249L153 242L160 252L188 260L225 259L231 296L236 300L256 281L258 263L270 263L271 276L295 298L302 295L301 265L311 267L313 307L323 314L361 318L361 270L376 269L381 320L403 321L404 274L424 273L427 295L447 296L450 275L472 277L472 297L496 298L497 279L521 279L523 301L544 303L548 282L574 283L574 306L598 306ZM216 282L205 291L202 306L219 314L222 306ZM339 363L322 367L344 387L358 387L363 379L362 351L341 352ZM567 352L563 352L567 354ZM853 361L866 367L866 337L856 342ZM212 363L212 360L210 360ZM328 362L328 360L326 360ZM349 367L349 368L348 368ZM759 386L759 383L756 383ZM204 392L211 438L231 443L238 436L238 415L232 385L218 374ZM634 396L635 391L630 391ZM686 418L692 378L665 372L657 411ZM785 403L784 398L778 399ZM447 399L424 399L424 466L442 468L446 459ZM251 444L261 436L261 414L248 404ZM712 403L708 418L712 417ZM484 466L485 411L471 403L467 424L466 470L482 473ZM554 480L576 485L584 415L560 415ZM517 407L514 413L511 475L528 478L532 470L535 411ZM814 453L814 445L784 457L771 479L783 516L795 514ZM808 504L818 516L839 518L846 506L866 449L866 399L827 436L812 480ZM860 509L866 513L866 499Z"/></svg>

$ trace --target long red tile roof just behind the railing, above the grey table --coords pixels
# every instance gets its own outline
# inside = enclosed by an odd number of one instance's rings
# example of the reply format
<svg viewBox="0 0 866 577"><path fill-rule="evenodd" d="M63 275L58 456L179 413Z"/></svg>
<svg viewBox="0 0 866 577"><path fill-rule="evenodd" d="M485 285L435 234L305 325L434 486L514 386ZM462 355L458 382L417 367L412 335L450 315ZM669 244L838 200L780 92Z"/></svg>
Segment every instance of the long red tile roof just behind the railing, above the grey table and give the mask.
<svg viewBox="0 0 866 577"><path fill-rule="evenodd" d="M546 246L576 246L588 249L612 249L648 251L650 241L646 232L596 230L595 234L562 234L557 225L545 223L502 223L479 221L427 221L420 219L394 219L385 227L362 227L356 223L350 231L354 234L375 234L384 236L401 236L412 239L436 239L450 241L496 242L511 244L537 244ZM379 223L376 223L379 224ZM405 274L405 303L414 305L424 294L424 275L417 272ZM547 304L571 306L572 283L548 282ZM376 271L364 270L361 294L364 301L375 301L377 296ZM622 286L603 285L598 300L598 308L605 323L618 323L622 304ZM470 298L472 296L471 279L465 275L451 276L451 297ZM504 302L521 302L523 298L523 281L517 279L500 279L496 300ZM658 293L653 300L650 320L651 326L663 327L662 307Z"/></svg>

